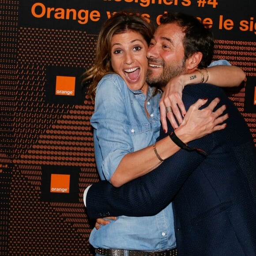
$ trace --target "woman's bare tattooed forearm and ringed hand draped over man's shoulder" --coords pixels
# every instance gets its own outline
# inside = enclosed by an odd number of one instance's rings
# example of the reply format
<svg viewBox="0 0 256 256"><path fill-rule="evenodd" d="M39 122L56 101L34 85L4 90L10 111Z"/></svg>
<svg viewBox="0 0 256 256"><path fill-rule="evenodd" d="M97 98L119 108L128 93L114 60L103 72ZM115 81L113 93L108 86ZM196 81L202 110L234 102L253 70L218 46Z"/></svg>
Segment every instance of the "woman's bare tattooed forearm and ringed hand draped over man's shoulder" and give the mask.
<svg viewBox="0 0 256 256"><path fill-rule="evenodd" d="M176 129L182 122L182 116L184 117L186 114L181 98L182 90L188 84L202 83L203 81L203 83L215 84L218 87L234 87L245 80L245 72L241 68L219 65L218 62L215 61L215 66L211 68L203 68L200 72L195 70L189 74L174 77L169 81L159 102L161 122L165 132L167 132L166 116L172 127ZM166 107L170 107L169 110L172 112L166 113Z"/></svg>

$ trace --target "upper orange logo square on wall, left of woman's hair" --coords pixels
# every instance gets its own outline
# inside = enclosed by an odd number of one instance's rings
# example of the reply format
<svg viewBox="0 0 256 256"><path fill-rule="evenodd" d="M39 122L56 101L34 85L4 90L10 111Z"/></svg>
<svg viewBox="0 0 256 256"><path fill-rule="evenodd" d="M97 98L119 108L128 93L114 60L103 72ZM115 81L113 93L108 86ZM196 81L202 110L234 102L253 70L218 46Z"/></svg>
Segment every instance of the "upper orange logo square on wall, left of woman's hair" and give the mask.
<svg viewBox="0 0 256 256"><path fill-rule="evenodd" d="M56 95L75 96L75 76L56 76Z"/></svg>

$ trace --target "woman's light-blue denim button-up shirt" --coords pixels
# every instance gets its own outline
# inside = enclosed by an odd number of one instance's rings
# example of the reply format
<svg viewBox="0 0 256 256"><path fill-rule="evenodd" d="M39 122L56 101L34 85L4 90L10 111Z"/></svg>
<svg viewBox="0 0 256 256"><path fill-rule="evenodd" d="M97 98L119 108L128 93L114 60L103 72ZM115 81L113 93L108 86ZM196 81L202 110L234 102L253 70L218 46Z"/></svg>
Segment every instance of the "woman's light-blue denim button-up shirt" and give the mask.
<svg viewBox="0 0 256 256"><path fill-rule="evenodd" d="M90 121L94 127L96 164L102 179L110 180L124 155L153 144L159 136L161 95L151 97L151 92L149 87L146 97L141 90L129 89L116 74L105 75L98 83ZM172 206L150 217L119 216L99 230L94 228L90 244L94 248L148 251L173 248L176 244Z"/></svg>

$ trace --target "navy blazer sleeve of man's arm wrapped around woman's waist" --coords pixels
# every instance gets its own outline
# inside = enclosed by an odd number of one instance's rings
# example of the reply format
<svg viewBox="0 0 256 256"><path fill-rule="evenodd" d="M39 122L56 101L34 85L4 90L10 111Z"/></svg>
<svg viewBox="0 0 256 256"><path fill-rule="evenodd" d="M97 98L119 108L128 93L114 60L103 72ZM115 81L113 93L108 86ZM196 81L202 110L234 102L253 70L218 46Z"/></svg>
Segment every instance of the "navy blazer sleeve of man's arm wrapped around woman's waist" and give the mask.
<svg viewBox="0 0 256 256"><path fill-rule="evenodd" d="M187 97L184 103L188 107L195 101L195 98ZM168 131L171 130L169 124ZM159 139L164 136L166 134L161 130ZM189 144L208 153L214 147L214 141L215 133ZM93 184L87 192L87 214L89 218L156 215L173 200L182 184L204 159L196 151L180 150L158 168L120 188L113 187L107 181Z"/></svg>

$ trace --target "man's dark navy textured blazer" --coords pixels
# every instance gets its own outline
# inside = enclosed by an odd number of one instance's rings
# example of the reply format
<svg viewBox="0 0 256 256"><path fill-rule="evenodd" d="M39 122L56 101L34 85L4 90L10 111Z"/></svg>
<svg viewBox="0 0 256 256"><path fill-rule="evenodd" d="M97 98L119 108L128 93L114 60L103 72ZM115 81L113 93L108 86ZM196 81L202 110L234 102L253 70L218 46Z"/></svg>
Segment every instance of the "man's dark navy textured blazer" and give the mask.
<svg viewBox="0 0 256 256"><path fill-rule="evenodd" d="M221 88L198 84L183 92L187 109L198 98L215 97L227 105L227 127L189 143L207 157L180 150L120 188L93 184L89 217L155 215L172 201L180 256L255 256L256 149L248 127ZM165 136L160 131L159 139Z"/></svg>

